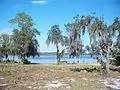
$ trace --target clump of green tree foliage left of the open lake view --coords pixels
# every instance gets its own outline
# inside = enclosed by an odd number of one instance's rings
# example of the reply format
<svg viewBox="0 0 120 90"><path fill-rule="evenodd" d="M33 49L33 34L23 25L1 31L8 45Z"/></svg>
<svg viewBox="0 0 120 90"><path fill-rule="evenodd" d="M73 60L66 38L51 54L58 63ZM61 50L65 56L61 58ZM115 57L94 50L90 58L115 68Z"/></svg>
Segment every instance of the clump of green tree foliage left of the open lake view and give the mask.
<svg viewBox="0 0 120 90"><path fill-rule="evenodd" d="M16 17L9 21L16 25L12 35L0 35L0 55L8 57L18 55L25 64L30 63L27 57L39 55L37 48L39 46L36 39L40 32L34 28L33 19L30 15L22 12L17 13Z"/></svg>

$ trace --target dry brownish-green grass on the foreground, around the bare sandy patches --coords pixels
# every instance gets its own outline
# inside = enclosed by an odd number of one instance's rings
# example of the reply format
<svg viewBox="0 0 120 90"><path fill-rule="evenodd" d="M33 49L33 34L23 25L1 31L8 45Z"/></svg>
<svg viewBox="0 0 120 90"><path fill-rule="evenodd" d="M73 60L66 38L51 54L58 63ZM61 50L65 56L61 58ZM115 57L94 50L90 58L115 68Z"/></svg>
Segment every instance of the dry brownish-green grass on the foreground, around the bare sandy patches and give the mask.
<svg viewBox="0 0 120 90"><path fill-rule="evenodd" d="M71 90L106 90L101 86L98 78L101 72L76 71L76 69L99 68L99 65L42 65L42 64L0 64L0 76L4 76L5 83L10 90L29 90L26 87L36 87L35 90L47 90L43 88L49 81L59 80L71 86ZM70 82L74 79L75 82ZM38 87L42 87L37 89ZM64 90L64 89L62 89ZM66 89L65 89L66 90Z"/></svg>

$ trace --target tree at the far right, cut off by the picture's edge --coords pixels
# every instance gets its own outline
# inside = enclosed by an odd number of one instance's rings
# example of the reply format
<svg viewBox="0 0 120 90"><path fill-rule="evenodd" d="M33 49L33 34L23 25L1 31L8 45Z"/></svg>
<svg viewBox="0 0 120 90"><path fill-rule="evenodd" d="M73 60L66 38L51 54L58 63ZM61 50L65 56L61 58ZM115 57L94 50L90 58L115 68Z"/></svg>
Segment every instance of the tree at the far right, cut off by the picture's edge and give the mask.
<svg viewBox="0 0 120 90"><path fill-rule="evenodd" d="M120 18L116 17L110 26L111 34L116 36L116 43L114 44L114 50L112 51L114 65L120 65Z"/></svg>

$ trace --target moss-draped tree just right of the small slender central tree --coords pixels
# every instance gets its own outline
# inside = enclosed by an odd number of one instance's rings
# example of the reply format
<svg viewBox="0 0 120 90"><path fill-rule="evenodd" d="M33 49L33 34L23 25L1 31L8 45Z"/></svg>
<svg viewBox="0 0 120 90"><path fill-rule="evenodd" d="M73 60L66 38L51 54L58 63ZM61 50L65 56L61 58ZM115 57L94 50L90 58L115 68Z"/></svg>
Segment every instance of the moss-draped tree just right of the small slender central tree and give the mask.
<svg viewBox="0 0 120 90"><path fill-rule="evenodd" d="M74 17L74 21L66 24L65 27L69 34L69 56L72 56L73 58L76 57L79 60L79 56L83 52L81 40L81 33L84 32L82 30L85 29L83 17L79 18L79 15L77 15Z"/></svg>

